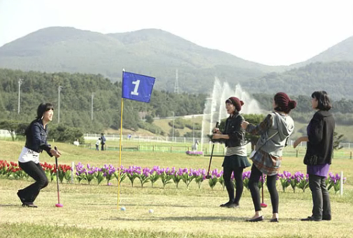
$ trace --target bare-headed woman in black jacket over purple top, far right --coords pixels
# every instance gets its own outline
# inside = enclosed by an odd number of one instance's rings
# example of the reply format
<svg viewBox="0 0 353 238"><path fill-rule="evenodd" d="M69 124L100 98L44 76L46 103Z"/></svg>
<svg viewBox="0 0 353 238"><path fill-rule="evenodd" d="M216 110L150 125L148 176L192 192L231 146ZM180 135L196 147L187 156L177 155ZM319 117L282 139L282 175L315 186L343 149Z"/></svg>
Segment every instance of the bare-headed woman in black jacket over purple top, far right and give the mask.
<svg viewBox="0 0 353 238"><path fill-rule="evenodd" d="M308 135L294 142L294 148L301 142L307 142L304 163L307 165L313 202L312 215L301 221L331 220L331 204L325 180L331 165L335 119L329 112L331 102L326 91L315 91L311 97L312 109L317 112L308 125Z"/></svg>

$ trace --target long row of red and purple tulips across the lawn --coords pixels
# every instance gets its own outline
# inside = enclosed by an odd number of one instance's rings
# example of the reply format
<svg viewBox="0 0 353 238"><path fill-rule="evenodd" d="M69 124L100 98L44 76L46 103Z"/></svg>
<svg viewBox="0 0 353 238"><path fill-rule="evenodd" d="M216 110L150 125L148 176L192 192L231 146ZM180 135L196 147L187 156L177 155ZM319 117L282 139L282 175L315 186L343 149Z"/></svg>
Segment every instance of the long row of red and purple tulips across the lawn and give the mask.
<svg viewBox="0 0 353 238"><path fill-rule="evenodd" d="M49 181L56 179L56 166L50 165L48 163L41 163L45 174L47 175ZM58 175L59 181L63 182L64 180L69 182L71 181L71 171L73 168L69 165L59 165ZM73 171L74 172L74 171ZM245 188L249 189L249 179L251 171L243 172L243 183ZM81 181L87 181L88 184L91 184L92 181L95 181L96 184L101 184L102 181L106 180L107 185L110 185L110 181L113 179L118 179L120 176L120 183L122 181L129 179L131 186L134 186L134 181L138 179L143 187L145 184L150 183L153 187L156 181L161 180L163 188L167 184L174 183L175 188L178 188L180 181L185 183L187 188L195 181L197 186L201 188L201 184L206 180L207 172L205 169L192 169L192 168L159 168L159 166L154 166L153 168L141 168L140 166L129 166L129 168L115 168L113 165L103 165L101 168L91 166L89 164L82 165L78 163L75 165L74 178L80 184ZM208 185L210 188L214 188L217 183L221 184L224 189L224 179L223 171L217 169L210 172L211 178L208 179ZM18 167L17 163L7 161L0 161L0 176L6 179L28 179L29 176ZM235 185L234 176L232 174L231 179ZM266 175L264 175L264 184L266 184ZM294 193L296 188L301 189L305 192L305 189L308 188L308 174L303 174L301 172L296 172L291 174L290 172L284 171L282 174L278 174L277 177L280 180L282 190L285 192L286 189L290 186ZM340 174L329 173L329 176L326 178L326 187L330 190L331 188L337 193L340 191ZM343 178L343 183L347 179ZM261 178L259 182L259 188L261 188Z"/></svg>

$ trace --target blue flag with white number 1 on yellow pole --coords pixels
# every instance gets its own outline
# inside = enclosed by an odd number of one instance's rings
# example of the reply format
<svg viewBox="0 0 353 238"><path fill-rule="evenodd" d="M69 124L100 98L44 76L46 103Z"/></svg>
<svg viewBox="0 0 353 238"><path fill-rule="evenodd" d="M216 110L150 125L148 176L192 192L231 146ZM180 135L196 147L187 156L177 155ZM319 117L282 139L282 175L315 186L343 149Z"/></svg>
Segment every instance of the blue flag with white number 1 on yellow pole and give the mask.
<svg viewBox="0 0 353 238"><path fill-rule="evenodd" d="M122 73L122 98L150 103L154 77L136 73Z"/></svg>

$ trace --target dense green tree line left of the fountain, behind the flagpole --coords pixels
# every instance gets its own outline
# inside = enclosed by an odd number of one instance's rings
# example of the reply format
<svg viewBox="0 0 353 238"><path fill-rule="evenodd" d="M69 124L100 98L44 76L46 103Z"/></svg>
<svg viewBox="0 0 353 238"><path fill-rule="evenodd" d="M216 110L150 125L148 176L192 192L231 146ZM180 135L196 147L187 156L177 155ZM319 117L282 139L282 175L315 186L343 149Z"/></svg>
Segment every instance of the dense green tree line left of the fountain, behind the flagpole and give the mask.
<svg viewBox="0 0 353 238"><path fill-rule="evenodd" d="M20 79L22 84L18 114ZM62 87L60 93L59 87ZM100 133L106 128L120 128L121 94L122 83L110 82L103 75L0 69L0 121L31 121L36 117L38 105L50 102L55 107L53 123L57 124L60 95L60 124L82 128L83 132ZM141 119L147 115L170 117L173 114L201 114L205 99L204 94L174 94L154 90L150 103L124 101L123 127L133 131L146 127Z"/></svg>

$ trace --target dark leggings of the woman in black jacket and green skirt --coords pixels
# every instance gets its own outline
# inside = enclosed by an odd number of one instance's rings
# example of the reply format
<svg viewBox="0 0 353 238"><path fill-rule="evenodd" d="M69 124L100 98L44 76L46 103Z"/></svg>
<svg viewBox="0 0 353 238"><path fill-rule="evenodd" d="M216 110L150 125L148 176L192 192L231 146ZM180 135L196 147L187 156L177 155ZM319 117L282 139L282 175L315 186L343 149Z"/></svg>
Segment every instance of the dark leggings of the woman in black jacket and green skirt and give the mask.
<svg viewBox="0 0 353 238"><path fill-rule="evenodd" d="M243 193L243 168L223 168L223 179L226 185L226 191L229 195L229 201L239 204L239 200ZM231 181L231 173L234 172L234 179L236 179L236 198L234 198L234 186Z"/></svg>

